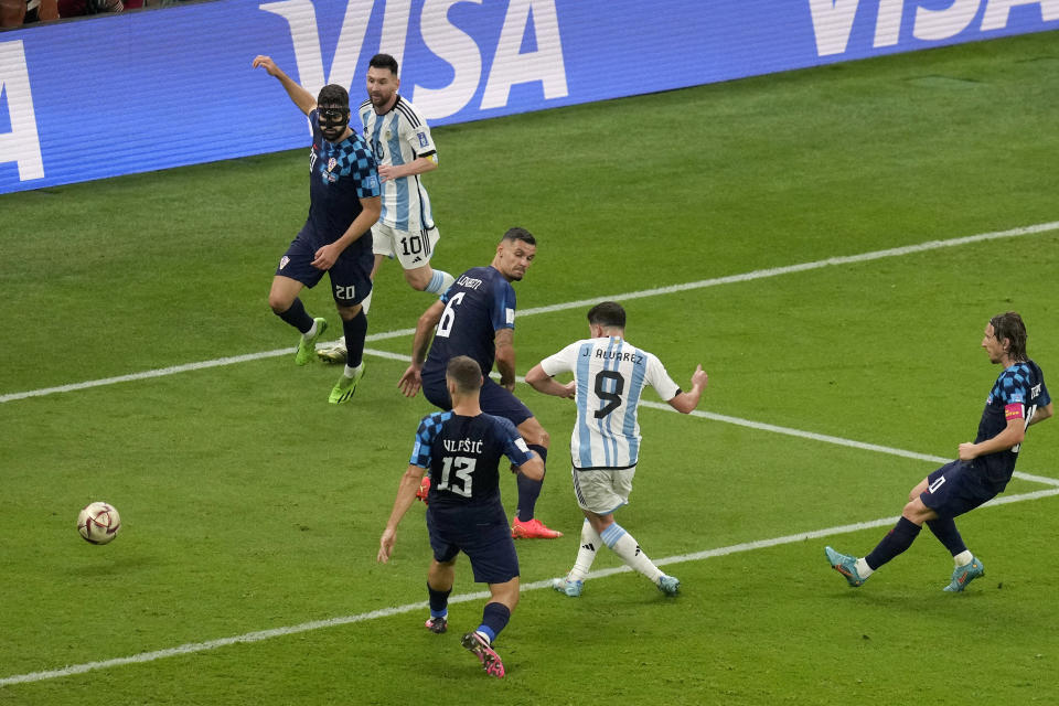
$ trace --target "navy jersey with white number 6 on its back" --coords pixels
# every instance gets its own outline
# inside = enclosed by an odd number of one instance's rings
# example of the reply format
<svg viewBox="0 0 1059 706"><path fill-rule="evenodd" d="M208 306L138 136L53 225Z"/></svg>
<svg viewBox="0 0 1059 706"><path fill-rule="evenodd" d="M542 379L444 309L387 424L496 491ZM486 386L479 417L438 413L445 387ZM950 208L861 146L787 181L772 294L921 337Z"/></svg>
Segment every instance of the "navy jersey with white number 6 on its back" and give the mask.
<svg viewBox="0 0 1059 706"><path fill-rule="evenodd" d="M496 332L515 328L515 289L500 270L472 267L441 296L445 311L422 365L424 377L445 376L457 355L473 359L489 375L496 357Z"/></svg>

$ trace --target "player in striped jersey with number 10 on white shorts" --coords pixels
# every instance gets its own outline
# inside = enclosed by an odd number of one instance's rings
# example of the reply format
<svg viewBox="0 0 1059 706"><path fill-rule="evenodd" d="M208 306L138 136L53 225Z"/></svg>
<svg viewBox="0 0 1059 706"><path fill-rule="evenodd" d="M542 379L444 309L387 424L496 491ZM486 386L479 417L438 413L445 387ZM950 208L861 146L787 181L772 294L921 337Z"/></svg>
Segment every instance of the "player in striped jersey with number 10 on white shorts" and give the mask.
<svg viewBox="0 0 1059 706"><path fill-rule="evenodd" d="M383 211L372 227L375 267L372 280L386 258L396 258L413 289L443 295L453 277L430 266L430 257L440 237L430 212L430 197L421 174L438 168L438 150L430 127L411 103L397 93L397 60L376 54L368 62L367 99L359 113L364 124L364 140L378 162L383 189ZM364 311L371 307L371 295ZM327 362L345 360L345 345L338 341L321 349Z"/></svg>

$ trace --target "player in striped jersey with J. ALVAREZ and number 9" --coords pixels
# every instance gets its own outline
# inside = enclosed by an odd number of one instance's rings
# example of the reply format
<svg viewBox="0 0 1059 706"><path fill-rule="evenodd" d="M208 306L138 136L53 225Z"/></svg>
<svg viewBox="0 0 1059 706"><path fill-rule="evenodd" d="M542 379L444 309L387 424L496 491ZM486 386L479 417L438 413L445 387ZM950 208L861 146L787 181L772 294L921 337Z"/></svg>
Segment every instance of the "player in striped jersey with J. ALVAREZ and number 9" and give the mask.
<svg viewBox="0 0 1059 706"><path fill-rule="evenodd" d="M592 307L588 329L591 338L571 343L526 373L526 382L538 392L577 402L570 457L574 493L585 523L574 568L565 578L555 579L553 587L570 597L580 596L596 552L606 544L659 590L673 596L680 580L663 574L648 558L635 538L614 522L614 512L629 503L632 491L640 454L637 411L644 387L650 385L674 409L688 414L698 406L708 377L698 365L691 391L681 391L657 357L624 340L625 310L619 303L605 301ZM564 385L553 379L560 373L574 373L574 381Z"/></svg>

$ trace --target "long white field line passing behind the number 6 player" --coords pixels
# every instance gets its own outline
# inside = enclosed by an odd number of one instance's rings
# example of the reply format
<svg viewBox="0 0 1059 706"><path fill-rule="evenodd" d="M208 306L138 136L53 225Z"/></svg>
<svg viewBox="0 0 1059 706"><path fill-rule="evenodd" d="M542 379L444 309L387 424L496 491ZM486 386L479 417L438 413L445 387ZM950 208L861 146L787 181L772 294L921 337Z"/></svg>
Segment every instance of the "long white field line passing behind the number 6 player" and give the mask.
<svg viewBox="0 0 1059 706"><path fill-rule="evenodd" d="M554 311L580 309L584 307L588 307L588 306L596 304L601 301L608 301L608 300L628 301L630 299L642 299L644 297L657 297L662 295L672 295L675 292L688 291L692 289L704 289L706 287L716 287L718 285L747 282L755 279L764 279L768 277L779 277L780 275L792 275L794 272L804 272L807 270L821 269L823 267L834 267L838 265L867 263L870 260L877 260L877 259L882 259L887 257L901 257L905 255L912 255L916 253L926 253L928 250L937 250L944 247L958 247L961 245L971 245L973 243L995 240L998 238L1023 237L1026 235L1036 235L1038 233L1047 233L1049 231L1056 231L1056 229L1059 229L1059 221L1053 221L1051 223L1038 223L1037 225L1030 225L1030 226L1025 226L1020 228L1012 228L1009 231L996 231L994 233L980 233L978 235L969 235L965 237L950 238L948 240L928 240L926 243L919 243L917 245L906 245L903 247L894 247L885 250L874 250L871 253L862 253L860 255L830 257L827 259L815 260L813 263L802 263L801 265L788 265L785 267L772 267L768 269L758 269L750 272L744 272L741 275L730 275L728 277L715 277L713 279L703 279L695 282L685 282L683 285L672 285L670 287L643 289L640 291L624 292L621 295L608 295L606 297L595 297L592 299L567 301L564 303L552 304L547 307L523 309L518 312L518 315L532 317L541 313L552 313ZM383 333L371 334L367 336L367 341L368 342L383 341L386 339L408 336L414 333L415 333L415 329L399 329L396 331L387 331ZM257 361L257 360L267 359L267 357L289 355L290 353L291 353L291 349L265 351L261 353L248 353L246 355L233 355L231 357L222 357L214 361L203 361L201 363L186 363L184 365L173 365L171 367L162 367L153 371L146 371L142 373L132 373L129 375L119 375L117 377L107 377L104 379L94 379L94 381L87 381L83 383L72 383L69 385L60 385L57 387L45 387L42 389L32 389L32 391L22 392L22 393L9 393L6 395L0 395L0 404L15 402L18 399L25 399L28 397L43 397L45 395L53 395L55 393L68 393L68 392L75 392L78 389L87 389L90 387L100 387L104 385L114 385L117 383L128 383L128 382L133 382L139 379L147 379L150 377L162 377L165 375L175 375L176 373L188 373L191 371L199 371L207 367L234 365L236 363L246 363L249 361ZM368 353L368 351L365 351L365 353ZM382 353L379 351L371 351L370 354L379 355L382 357L389 356L389 354Z"/></svg>

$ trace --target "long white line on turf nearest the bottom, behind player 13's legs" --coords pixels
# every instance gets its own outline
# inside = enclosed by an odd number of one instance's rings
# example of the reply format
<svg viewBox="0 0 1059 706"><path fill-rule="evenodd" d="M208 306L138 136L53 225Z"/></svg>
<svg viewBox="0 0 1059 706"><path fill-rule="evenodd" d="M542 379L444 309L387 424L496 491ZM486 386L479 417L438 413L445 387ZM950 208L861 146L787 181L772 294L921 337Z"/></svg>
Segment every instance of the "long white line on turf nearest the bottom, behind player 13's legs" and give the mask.
<svg viewBox="0 0 1059 706"><path fill-rule="evenodd" d="M1033 493L1023 493L1020 495L1009 495L1006 498L996 498L983 507L990 507L995 505L1004 505L1008 503L1023 502L1027 500L1038 500L1040 498L1050 498L1052 495L1059 495L1059 488L1052 488L1049 490L1040 490ZM685 561L698 561L702 559L708 559L719 556L728 556L730 554L738 554L740 552L753 552L756 549L766 549L769 547L781 546L784 544L795 544L799 542L804 542L806 539L821 539L823 537L830 537L839 534L849 534L853 532L859 532L862 530L870 530L874 527L885 527L897 522L897 516L894 517L882 517L880 520L873 520L869 522L857 522L848 525L839 525L837 527L828 527L826 530L814 530L812 532L803 532L800 534L791 534L782 537L773 537L771 539L758 539L755 542L744 542L741 544L734 544L727 547L718 547L716 549L706 549L705 552L696 552L694 554L682 554L680 556L671 556L655 561L657 566L667 566L671 564L683 564ZM613 568L600 569L596 571L590 571L588 574L589 579L603 578L607 576L613 576L614 574L622 574L631 571L628 566L618 566ZM522 586L523 591L538 590L542 588L550 588L552 579L544 579L541 581L533 581L532 584L524 584ZM489 598L489 591L475 591L472 593L461 593L459 596L452 596L449 598L449 603L463 603L472 600L483 600ZM271 640L272 638L285 638L287 635L293 635L302 632L309 632L312 630L321 630L324 628L335 628L339 625L347 625L356 622L366 622L368 620L375 620L377 618L389 618L392 616L399 616L416 610L426 610L429 608L428 601L420 601L418 603L406 603L404 606L395 606L393 608L382 608L379 610L373 610L366 613L357 613L355 616L343 616L340 618L329 618L328 620L313 620L312 622L303 622L298 625L288 625L284 628L272 628L271 630L258 630L255 632L247 632L242 635L235 635L232 638L221 638L217 640L207 640L205 642L189 642L175 648L169 648L167 650L156 650L153 652L141 652L140 654L133 654L127 657L115 657L113 660L101 660L99 662L86 662L84 664L74 664L71 666L63 667L61 670L46 670L42 672L30 672L28 674L17 674L13 676L7 676L0 678L0 687L10 686L13 684L29 684L32 682L44 682L47 680L61 678L64 676L73 676L75 674L84 674L85 672L92 672L95 670L106 670L114 666L124 666L127 664L142 664L146 662L154 662L157 660L163 660L165 657L181 656L188 654L195 654L199 652L207 652L210 650L216 650L218 648L226 648L233 644L247 644L252 642L261 642L263 640Z"/></svg>

